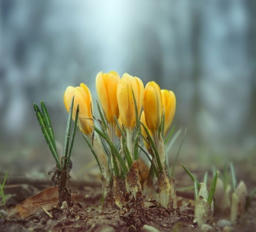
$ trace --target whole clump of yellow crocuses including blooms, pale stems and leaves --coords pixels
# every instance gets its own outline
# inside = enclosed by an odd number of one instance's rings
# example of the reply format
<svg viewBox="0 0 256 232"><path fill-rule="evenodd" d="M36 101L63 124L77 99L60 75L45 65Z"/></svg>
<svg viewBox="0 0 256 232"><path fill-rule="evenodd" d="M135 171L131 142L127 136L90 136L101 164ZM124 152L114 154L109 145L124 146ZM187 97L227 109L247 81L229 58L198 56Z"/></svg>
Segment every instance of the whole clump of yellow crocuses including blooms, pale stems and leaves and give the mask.
<svg viewBox="0 0 256 232"><path fill-rule="evenodd" d="M73 112L76 112L77 105L80 107L78 126L84 135L93 140L93 146L90 146L90 142L87 143L101 169L105 195L119 185L118 179L125 179L126 190L134 199L139 199L138 196L142 195L138 176L138 153L139 150L146 151L140 144L140 137L148 150L146 155L158 178L159 186L164 186L165 192L166 189L171 189L166 188L169 177L165 166L163 136L167 134L176 111L174 93L160 90L155 82L147 83L144 88L140 78L127 73L120 78L115 71L98 73L96 91L101 105L100 107L98 104L101 120L96 120L93 116L93 100L84 83L78 87L68 86L64 93L64 103L69 111L74 96ZM96 121L100 122L101 128L98 128ZM119 137L117 143L116 135ZM85 136L84 138L87 140ZM118 199L122 199L122 196L115 195L116 205L121 207L122 202ZM162 205L167 208L169 200L165 199L163 202L165 203Z"/></svg>

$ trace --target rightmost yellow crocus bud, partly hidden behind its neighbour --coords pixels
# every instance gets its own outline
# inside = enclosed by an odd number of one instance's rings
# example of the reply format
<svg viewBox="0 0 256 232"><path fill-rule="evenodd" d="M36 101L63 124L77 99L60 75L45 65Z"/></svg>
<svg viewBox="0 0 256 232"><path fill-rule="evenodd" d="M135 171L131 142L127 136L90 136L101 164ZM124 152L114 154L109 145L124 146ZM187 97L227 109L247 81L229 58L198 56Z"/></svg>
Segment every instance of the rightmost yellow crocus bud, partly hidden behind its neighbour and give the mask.
<svg viewBox="0 0 256 232"><path fill-rule="evenodd" d="M165 128L163 135L165 136L176 110L176 97L172 91L161 90L163 100L163 110L165 111Z"/></svg>

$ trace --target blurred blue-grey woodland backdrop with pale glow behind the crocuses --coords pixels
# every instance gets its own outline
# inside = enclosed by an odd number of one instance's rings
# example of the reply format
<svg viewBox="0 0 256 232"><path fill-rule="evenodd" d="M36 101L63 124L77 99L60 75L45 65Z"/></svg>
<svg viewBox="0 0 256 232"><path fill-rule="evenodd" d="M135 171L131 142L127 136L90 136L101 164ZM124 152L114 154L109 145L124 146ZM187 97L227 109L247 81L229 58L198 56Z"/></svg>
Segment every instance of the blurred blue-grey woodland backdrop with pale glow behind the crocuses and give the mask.
<svg viewBox="0 0 256 232"><path fill-rule="evenodd" d="M188 128L183 163L255 156L255 1L1 0L0 7L1 172L45 174L54 160L33 103L44 100L61 146L66 87L84 82L96 101L96 75L112 70L174 91L172 124ZM81 137L78 176L93 160Z"/></svg>

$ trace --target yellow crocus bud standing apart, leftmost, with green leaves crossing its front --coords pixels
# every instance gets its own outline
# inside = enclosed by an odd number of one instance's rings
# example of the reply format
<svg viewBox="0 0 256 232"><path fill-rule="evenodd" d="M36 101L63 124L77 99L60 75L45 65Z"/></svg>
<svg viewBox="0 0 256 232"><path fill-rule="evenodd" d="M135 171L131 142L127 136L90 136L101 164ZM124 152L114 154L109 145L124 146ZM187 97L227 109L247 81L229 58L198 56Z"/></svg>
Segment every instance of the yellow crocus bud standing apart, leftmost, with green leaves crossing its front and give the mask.
<svg viewBox="0 0 256 232"><path fill-rule="evenodd" d="M79 129L82 133L91 138L93 135L93 100L90 90L84 83L81 83L80 86L76 88L68 86L64 93L64 104L68 112L73 96L74 108L72 118L73 120L76 118L76 108L77 105L79 105Z"/></svg>

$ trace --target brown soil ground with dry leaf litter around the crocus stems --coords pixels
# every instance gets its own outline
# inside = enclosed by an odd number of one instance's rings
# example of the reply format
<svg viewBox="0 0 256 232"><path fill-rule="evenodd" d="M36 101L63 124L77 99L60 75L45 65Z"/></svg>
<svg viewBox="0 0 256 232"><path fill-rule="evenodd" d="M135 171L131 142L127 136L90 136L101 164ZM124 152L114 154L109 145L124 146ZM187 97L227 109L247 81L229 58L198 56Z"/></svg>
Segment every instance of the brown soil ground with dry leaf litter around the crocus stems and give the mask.
<svg viewBox="0 0 256 232"><path fill-rule="evenodd" d="M248 192L251 192L256 187L255 161L244 160L239 164L235 163L235 166L238 180L244 180ZM199 170L196 163L187 164L187 167L199 180L202 179L205 169ZM0 176L1 183L3 177L4 175ZM113 205L112 208L102 209L101 181L97 174L91 174L87 180L71 178L71 207L60 208L56 204L49 210L40 208L31 216L21 219L8 218L8 211L28 197L52 187L50 177L38 179L9 173L4 193L11 197L7 197L6 208L0 208L0 231L201 231L193 223L193 189L182 189L192 185L190 177L177 165L176 188L179 209L176 212L162 208L155 200L144 200L144 208L131 206L118 209ZM233 231L256 231L255 215L254 198L246 219ZM209 223L213 226L213 231L223 231L222 228L216 227L219 219L224 218L215 213L214 220Z"/></svg>

